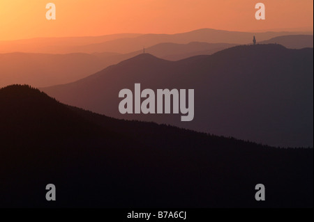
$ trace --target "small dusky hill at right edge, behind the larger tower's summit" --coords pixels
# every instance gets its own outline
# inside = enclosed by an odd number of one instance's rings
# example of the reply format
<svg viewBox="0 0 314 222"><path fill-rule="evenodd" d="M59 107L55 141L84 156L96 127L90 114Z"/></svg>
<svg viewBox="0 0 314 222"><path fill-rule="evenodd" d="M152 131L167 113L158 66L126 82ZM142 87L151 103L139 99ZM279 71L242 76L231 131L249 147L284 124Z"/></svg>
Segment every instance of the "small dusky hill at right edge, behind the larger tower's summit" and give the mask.
<svg viewBox="0 0 314 222"><path fill-rule="evenodd" d="M258 43L276 43L290 49L303 49L308 47L313 48L313 35L283 35Z"/></svg>

